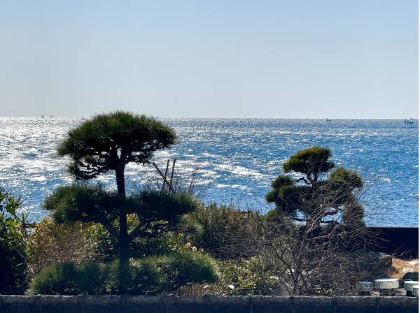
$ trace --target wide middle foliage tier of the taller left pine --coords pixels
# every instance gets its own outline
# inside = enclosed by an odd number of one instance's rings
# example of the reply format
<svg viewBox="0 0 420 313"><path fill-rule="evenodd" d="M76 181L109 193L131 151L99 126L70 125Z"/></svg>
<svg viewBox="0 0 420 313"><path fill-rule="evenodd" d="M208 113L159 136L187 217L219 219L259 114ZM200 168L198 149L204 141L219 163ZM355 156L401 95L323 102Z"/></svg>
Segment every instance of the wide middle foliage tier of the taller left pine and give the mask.
<svg viewBox="0 0 420 313"><path fill-rule="evenodd" d="M136 214L137 220L131 228L141 225L132 239L142 236L165 235L176 227L183 214L193 212L201 205L194 196L185 193L168 194L165 191L141 191L121 198L100 185L72 184L57 188L45 200L44 208L52 212L57 222L97 222L113 236L118 237L119 211ZM132 230L134 230L132 229ZM115 242L114 242L115 243Z"/></svg>

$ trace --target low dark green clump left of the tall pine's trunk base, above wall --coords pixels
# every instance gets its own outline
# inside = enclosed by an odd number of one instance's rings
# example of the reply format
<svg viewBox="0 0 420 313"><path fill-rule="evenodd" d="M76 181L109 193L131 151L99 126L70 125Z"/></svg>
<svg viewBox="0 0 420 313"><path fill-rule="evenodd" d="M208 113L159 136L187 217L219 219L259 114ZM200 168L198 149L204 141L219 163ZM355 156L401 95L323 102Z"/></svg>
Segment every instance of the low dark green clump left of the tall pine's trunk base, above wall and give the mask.
<svg viewBox="0 0 420 313"><path fill-rule="evenodd" d="M102 272L97 264L77 266L55 263L44 268L29 284L30 294L76 295L95 293L102 286Z"/></svg>

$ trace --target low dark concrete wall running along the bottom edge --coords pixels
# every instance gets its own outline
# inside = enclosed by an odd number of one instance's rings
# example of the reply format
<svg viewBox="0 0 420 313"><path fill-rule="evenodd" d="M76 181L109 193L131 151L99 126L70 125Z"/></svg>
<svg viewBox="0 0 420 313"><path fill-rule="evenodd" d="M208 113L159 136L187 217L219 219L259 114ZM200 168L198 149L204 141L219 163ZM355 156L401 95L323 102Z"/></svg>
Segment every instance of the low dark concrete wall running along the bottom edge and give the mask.
<svg viewBox="0 0 420 313"><path fill-rule="evenodd" d="M419 312L411 297L0 296L1 313Z"/></svg>

